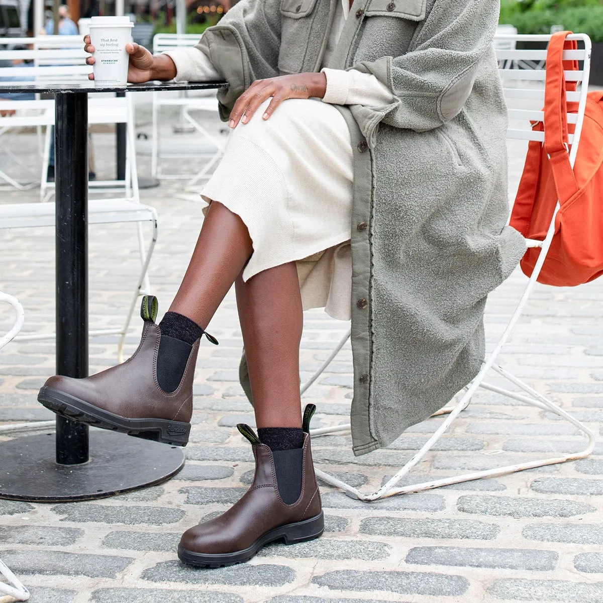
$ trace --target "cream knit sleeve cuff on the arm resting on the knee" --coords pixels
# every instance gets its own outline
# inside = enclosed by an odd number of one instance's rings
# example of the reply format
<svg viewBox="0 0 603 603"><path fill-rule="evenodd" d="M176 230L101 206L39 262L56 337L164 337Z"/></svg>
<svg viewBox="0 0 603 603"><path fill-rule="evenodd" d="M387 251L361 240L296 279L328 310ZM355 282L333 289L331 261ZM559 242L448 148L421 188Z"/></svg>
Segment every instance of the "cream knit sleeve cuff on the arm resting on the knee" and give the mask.
<svg viewBox="0 0 603 603"><path fill-rule="evenodd" d="M322 72L327 77L323 103L382 107L394 101L391 90L374 75L356 69L343 71L343 69L324 68Z"/></svg>

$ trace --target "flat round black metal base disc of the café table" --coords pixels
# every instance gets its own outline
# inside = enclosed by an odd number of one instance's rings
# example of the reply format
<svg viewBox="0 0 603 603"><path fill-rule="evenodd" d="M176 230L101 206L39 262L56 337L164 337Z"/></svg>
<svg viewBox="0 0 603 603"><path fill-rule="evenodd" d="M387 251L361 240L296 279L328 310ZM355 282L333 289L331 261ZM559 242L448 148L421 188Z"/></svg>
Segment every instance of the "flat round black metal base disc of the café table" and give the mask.
<svg viewBox="0 0 603 603"><path fill-rule="evenodd" d="M182 469L182 448L90 429L90 460L55 463L55 434L0 442L0 498L90 500L160 484Z"/></svg>

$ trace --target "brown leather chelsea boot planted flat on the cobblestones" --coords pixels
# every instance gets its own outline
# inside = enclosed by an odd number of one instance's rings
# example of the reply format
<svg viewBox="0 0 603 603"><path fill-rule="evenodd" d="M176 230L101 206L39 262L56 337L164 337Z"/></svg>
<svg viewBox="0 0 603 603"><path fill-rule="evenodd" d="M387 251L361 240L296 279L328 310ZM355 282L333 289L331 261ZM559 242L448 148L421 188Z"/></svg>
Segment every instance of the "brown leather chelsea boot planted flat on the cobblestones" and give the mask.
<svg viewBox="0 0 603 603"><path fill-rule="evenodd" d="M178 557L201 567L221 567L247 561L274 540L292 545L318 538L324 531L320 493L314 476L309 423L316 406L306 406L303 420L301 493L291 505L279 494L273 452L247 425L237 427L253 446L256 473L241 500L226 513L188 529L178 545Z"/></svg>

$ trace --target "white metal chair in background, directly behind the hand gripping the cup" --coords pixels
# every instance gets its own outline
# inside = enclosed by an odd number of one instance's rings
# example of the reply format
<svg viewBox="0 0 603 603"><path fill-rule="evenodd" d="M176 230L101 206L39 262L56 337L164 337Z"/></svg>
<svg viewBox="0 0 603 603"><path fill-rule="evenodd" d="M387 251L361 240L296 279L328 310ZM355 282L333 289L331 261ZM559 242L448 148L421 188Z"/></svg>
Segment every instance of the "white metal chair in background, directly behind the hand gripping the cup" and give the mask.
<svg viewBox="0 0 603 603"><path fill-rule="evenodd" d="M184 46L195 46L198 42L198 34L156 34L153 37L153 54ZM201 141L209 142L209 144L205 145L207 148L202 148L202 150L194 154L195 157L207 159L207 163L197 174L165 174L162 172L161 157L171 157L172 159L191 157L191 153L183 154L182 152L169 153L160 151L159 112L161 107L170 106L180 107L182 118L201 134ZM153 125L151 133L151 174L153 177L165 180L189 178L189 182L186 185L187 188L194 186L199 180L209 177L210 170L216 165L223 154L225 144L216 136L209 134L206 128L197 119L193 118L191 112L196 111L209 112L217 116L218 102L215 98L215 92L212 92L211 96L201 98L188 96L186 92L180 92L177 97L166 96L162 92L153 92Z"/></svg>

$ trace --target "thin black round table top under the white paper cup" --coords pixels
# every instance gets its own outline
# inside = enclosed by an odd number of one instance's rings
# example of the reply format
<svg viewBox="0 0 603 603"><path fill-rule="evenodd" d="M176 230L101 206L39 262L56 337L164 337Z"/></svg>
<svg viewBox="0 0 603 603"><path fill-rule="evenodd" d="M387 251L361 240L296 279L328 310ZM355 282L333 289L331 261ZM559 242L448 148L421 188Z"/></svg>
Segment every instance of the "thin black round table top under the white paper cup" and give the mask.
<svg viewBox="0 0 603 603"><path fill-rule="evenodd" d="M224 88L225 81L147 81L143 84L125 84L125 86L96 86L93 81L69 82L66 84L33 81L1 81L0 94L9 92L45 92L68 94L75 92L171 92L178 90L209 90Z"/></svg>

